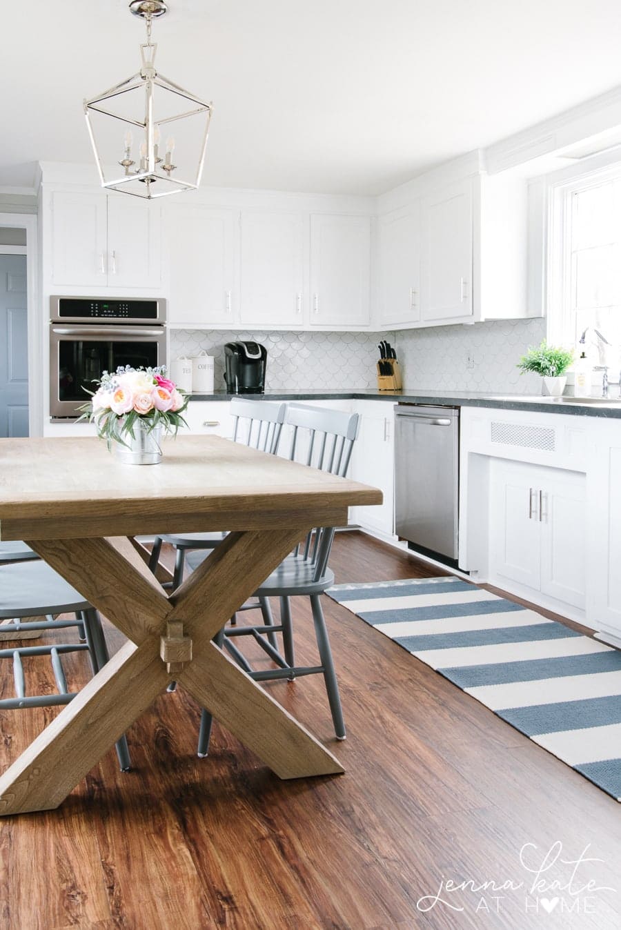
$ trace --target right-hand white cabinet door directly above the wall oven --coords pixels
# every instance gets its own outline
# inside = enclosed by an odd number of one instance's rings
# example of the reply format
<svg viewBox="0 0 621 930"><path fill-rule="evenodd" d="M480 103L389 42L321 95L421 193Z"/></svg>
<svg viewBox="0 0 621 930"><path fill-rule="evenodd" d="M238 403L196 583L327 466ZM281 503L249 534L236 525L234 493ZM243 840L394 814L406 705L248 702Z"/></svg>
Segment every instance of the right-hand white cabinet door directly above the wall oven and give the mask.
<svg viewBox="0 0 621 930"><path fill-rule="evenodd" d="M160 286L161 232L158 202L122 193L108 195L108 286Z"/></svg>

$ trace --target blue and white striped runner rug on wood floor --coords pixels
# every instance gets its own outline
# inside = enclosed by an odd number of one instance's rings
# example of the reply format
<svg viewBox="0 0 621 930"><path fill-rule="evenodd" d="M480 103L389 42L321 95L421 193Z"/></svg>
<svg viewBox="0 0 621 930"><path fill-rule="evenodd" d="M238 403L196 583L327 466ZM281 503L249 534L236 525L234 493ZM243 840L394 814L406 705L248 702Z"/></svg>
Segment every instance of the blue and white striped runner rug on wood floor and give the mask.
<svg viewBox="0 0 621 930"><path fill-rule="evenodd" d="M621 651L459 578L327 593L621 801Z"/></svg>

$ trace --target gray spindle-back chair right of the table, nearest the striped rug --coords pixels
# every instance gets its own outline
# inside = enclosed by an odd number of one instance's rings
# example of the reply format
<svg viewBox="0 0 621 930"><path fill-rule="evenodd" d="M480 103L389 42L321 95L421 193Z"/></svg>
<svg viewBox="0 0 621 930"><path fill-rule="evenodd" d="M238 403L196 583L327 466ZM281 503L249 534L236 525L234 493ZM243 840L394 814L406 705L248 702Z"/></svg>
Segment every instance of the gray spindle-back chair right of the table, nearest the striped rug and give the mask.
<svg viewBox="0 0 621 930"><path fill-rule="evenodd" d="M358 436L360 418L358 414L323 407L290 404L287 407L284 425L290 427L292 461L301 461L323 472L344 477L351 458L353 444ZM271 573L269 578L255 591L259 600L280 598L281 622L264 623L261 626L226 627L218 633L216 642L224 647L231 657L255 681L286 678L293 681L302 675L323 674L332 721L337 739L345 739L345 723L338 693L337 675L332 658L332 649L325 628L324 611L320 595L334 584L334 574L328 568L328 559L335 527L319 526L311 530L306 540L300 543L286 559ZM191 552L187 563L196 568L205 559L201 552ZM290 598L307 596L319 651L320 665L297 666L291 617ZM264 615L265 616L265 615ZM283 638L283 653L274 640L280 632ZM252 636L263 651L271 658L276 668L257 671L232 640L238 636ZM204 757L209 748L212 716L203 711L198 739L198 755Z"/></svg>

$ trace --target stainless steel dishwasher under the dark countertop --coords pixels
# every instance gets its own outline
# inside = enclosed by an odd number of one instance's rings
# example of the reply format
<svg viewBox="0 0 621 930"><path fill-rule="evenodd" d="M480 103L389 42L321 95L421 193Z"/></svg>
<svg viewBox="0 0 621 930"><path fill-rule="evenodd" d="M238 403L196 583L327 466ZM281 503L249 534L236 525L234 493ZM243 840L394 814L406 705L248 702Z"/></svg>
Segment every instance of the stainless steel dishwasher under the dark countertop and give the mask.
<svg viewBox="0 0 621 930"><path fill-rule="evenodd" d="M409 548L457 564L459 408L395 407L395 526Z"/></svg>

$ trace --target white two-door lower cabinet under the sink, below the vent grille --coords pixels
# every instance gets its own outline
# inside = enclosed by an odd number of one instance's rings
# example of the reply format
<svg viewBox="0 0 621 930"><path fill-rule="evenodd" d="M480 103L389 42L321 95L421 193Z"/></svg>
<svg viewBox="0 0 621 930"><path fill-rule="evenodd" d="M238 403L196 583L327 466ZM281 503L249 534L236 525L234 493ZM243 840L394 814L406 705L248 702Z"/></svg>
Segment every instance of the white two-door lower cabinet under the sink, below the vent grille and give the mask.
<svg viewBox="0 0 621 930"><path fill-rule="evenodd" d="M586 475L494 459L489 580L509 580L584 609L587 586Z"/></svg>

